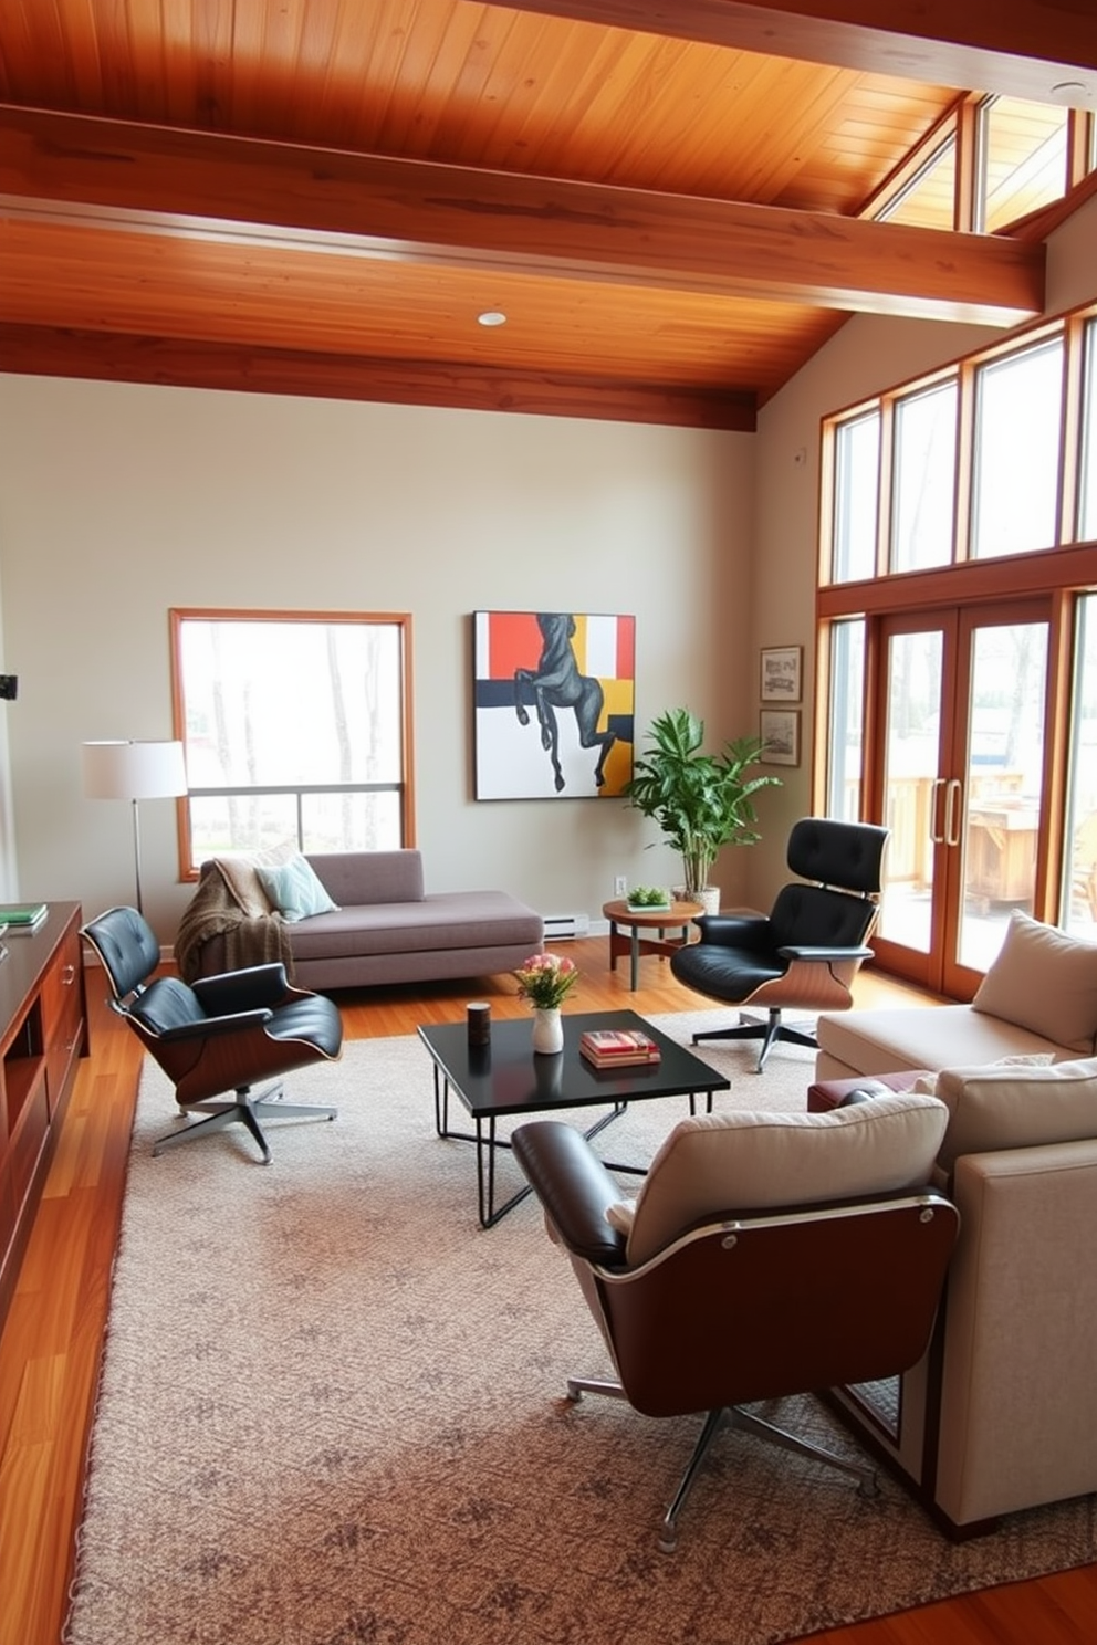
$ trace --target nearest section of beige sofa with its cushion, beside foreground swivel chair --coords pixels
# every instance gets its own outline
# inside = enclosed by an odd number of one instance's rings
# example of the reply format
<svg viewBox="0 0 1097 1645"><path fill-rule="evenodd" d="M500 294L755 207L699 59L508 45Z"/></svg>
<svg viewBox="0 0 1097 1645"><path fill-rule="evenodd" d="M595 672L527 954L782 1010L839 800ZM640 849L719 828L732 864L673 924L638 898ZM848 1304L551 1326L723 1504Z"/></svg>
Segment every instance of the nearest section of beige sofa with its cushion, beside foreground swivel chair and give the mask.
<svg viewBox="0 0 1097 1645"><path fill-rule="evenodd" d="M923 1081L924 1084L924 1081ZM842 1415L957 1536L1097 1492L1097 1059L946 1069L960 1212L937 1337Z"/></svg>

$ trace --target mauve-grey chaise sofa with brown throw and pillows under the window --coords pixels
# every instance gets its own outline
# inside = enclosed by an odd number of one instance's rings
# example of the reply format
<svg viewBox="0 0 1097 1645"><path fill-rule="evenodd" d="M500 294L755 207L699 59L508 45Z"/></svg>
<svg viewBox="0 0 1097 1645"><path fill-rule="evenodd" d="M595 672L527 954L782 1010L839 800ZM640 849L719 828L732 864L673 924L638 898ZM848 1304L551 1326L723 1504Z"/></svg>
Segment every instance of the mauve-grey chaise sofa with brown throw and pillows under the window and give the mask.
<svg viewBox="0 0 1097 1645"><path fill-rule="evenodd" d="M543 941L541 915L507 892L426 892L418 850L306 855L337 906L283 918L253 865L212 860L176 938L187 980L283 959L306 989L439 982L513 971Z"/></svg>

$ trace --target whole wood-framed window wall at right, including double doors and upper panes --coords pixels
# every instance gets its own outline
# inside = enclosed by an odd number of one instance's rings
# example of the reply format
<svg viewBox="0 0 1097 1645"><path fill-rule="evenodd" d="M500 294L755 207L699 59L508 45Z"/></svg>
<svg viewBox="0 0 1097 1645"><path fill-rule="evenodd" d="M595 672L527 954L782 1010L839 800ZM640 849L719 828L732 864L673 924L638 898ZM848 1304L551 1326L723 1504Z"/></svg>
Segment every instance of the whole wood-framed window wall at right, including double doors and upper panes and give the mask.
<svg viewBox="0 0 1097 1645"><path fill-rule="evenodd" d="M816 803L970 999L1013 908L1097 933L1097 304L824 419L821 526Z"/></svg>

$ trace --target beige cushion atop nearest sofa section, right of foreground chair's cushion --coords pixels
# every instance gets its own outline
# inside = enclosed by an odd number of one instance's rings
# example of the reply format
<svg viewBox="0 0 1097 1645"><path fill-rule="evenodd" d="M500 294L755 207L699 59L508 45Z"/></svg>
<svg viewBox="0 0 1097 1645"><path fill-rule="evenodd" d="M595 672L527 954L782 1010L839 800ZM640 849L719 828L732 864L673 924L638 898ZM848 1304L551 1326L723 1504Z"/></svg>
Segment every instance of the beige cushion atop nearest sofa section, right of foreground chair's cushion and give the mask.
<svg viewBox="0 0 1097 1645"><path fill-rule="evenodd" d="M1051 1068L946 1068L936 1096L949 1112L937 1165L965 1153L1097 1138L1097 1058Z"/></svg>

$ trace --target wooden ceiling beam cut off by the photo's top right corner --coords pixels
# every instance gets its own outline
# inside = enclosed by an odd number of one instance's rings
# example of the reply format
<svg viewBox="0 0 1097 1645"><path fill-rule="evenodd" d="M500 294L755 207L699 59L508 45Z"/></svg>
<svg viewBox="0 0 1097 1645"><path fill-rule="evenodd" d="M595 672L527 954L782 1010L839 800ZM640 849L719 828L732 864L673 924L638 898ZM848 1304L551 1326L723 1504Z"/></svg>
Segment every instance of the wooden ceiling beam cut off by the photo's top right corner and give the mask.
<svg viewBox="0 0 1097 1645"><path fill-rule="evenodd" d="M508 0L610 28L1097 107L1092 0ZM1053 87L1072 86L1054 92Z"/></svg>

